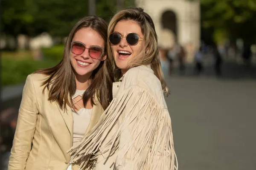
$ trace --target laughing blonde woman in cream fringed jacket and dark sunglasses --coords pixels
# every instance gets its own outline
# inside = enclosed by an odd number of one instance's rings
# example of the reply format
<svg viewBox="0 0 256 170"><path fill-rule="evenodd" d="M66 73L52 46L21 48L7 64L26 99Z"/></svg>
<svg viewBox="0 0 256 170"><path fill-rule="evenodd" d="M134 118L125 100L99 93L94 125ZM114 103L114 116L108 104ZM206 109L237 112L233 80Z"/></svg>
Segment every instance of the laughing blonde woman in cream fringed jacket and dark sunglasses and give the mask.
<svg viewBox="0 0 256 170"><path fill-rule="evenodd" d="M70 151L71 162L95 170L177 170L164 99L157 34L142 8L117 12L108 26L108 56L116 82L99 122ZM81 169L83 169L81 166Z"/></svg>

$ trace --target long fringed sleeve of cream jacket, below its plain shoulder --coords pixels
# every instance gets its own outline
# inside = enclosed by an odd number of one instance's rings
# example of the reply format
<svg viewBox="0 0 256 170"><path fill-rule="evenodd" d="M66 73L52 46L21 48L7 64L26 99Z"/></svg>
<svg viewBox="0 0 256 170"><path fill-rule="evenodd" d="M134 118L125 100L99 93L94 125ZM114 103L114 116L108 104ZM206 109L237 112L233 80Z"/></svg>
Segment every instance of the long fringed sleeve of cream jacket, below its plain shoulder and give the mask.
<svg viewBox="0 0 256 170"><path fill-rule="evenodd" d="M111 132L118 121L119 127ZM82 165L104 154L107 161L116 156L117 170L177 170L169 112L137 85L113 99L96 126L70 151L71 162Z"/></svg>

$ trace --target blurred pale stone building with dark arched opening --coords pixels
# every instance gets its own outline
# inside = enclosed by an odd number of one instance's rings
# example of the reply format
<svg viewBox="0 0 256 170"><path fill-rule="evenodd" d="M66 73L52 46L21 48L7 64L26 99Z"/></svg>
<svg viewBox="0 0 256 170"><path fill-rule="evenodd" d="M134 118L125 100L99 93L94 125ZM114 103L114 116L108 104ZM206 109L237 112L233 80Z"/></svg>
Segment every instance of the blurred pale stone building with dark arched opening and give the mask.
<svg viewBox="0 0 256 170"><path fill-rule="evenodd" d="M159 43L166 48L181 45L186 48L187 62L192 62L195 49L200 46L199 0L137 0L152 17ZM169 35L168 35L169 32Z"/></svg>

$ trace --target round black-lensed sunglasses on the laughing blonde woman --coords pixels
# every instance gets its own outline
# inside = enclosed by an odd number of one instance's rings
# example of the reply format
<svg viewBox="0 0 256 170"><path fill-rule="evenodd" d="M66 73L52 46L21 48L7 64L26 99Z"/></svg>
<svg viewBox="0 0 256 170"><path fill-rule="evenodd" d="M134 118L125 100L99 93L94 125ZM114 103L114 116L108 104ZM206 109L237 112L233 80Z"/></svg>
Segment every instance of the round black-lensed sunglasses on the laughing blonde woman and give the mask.
<svg viewBox="0 0 256 170"><path fill-rule="evenodd" d="M111 44L117 45L121 42L122 37L126 37L126 42L129 45L136 45L140 41L140 39L143 39L140 38L139 35L136 33L130 33L127 36L123 36L117 32L113 32L109 35L108 40Z"/></svg>

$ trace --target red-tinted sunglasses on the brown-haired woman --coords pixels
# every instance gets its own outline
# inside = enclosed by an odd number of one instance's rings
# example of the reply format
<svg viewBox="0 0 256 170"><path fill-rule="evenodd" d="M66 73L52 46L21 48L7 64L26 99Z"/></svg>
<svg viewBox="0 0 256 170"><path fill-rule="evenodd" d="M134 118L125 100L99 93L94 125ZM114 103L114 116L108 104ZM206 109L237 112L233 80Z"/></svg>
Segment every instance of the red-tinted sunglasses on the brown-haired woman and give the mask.
<svg viewBox="0 0 256 170"><path fill-rule="evenodd" d="M85 51L85 49L88 49L89 56L93 59L99 59L104 54L104 48L99 47L97 45L92 45L90 48L87 48L83 42L80 41L72 41L71 42L71 52L76 55L81 55Z"/></svg>

